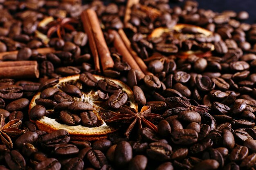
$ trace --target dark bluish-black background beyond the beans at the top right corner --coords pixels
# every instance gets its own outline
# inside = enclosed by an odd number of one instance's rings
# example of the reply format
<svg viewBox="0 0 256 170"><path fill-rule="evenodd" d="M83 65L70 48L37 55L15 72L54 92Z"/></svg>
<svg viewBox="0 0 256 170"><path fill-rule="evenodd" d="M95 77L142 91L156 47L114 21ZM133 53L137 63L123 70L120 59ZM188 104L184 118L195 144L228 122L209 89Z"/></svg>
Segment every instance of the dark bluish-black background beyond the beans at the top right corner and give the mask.
<svg viewBox="0 0 256 170"><path fill-rule="evenodd" d="M236 12L247 11L249 13L249 19L245 22L256 22L256 0L196 0L199 3L199 8L211 9L216 12L222 12L225 10L233 10ZM180 5L182 3L172 3L171 6ZM184 3L184 2L183 2Z"/></svg>

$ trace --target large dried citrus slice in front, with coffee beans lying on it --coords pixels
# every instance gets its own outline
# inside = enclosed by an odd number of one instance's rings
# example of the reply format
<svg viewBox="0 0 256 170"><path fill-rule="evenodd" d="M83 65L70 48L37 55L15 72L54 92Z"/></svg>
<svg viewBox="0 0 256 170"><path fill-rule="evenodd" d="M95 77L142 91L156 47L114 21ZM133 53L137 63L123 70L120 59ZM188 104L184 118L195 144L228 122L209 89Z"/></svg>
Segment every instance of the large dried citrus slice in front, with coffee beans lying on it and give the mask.
<svg viewBox="0 0 256 170"><path fill-rule="evenodd" d="M123 82L117 80L117 79L112 79L112 78L106 78L103 76L99 75L94 75L94 77L97 80L100 79L108 79L115 84L119 85L122 88L122 91L127 94L128 99L126 102L126 106L134 108L137 110L137 104L135 103L134 97L132 90ZM104 120L109 119L117 114L118 111L114 109L110 109L106 101L102 101L99 98L98 91L95 89L90 89L87 86L82 87L83 85L81 82L79 82L79 75L72 75L68 77L64 77L59 79L58 84L56 84L54 87L58 88L59 90L61 87L67 85L67 84L76 84L76 86L79 86L82 92L81 97L72 97L74 102L87 102L91 104L94 108L94 113L97 115L99 119L103 121L103 124L98 127L85 127L82 125L77 125L77 126L69 126L66 124L61 124L55 119L47 116L43 116L41 119L33 121L38 129L44 130L46 132L52 132L54 130L58 129L65 129L69 132L70 136L74 140L87 140L87 141L93 141L93 140L98 140L98 139L104 139L107 137L108 134L116 131L117 129L112 128L110 126L107 126ZM83 90L84 89L84 90ZM61 90L60 90L61 91ZM33 99L31 100L31 103L29 105L29 112L31 108L33 108L36 105L36 99L40 98L40 92L34 95ZM48 110L50 111L50 110ZM32 121L32 120L31 120Z"/></svg>

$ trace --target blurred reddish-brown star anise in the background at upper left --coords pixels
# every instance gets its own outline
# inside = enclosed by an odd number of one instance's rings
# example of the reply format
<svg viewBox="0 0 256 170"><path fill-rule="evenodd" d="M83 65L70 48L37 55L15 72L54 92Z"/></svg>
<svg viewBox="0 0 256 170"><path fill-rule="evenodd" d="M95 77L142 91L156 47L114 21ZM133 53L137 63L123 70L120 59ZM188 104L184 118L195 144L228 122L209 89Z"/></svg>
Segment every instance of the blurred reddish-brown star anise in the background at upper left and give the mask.
<svg viewBox="0 0 256 170"><path fill-rule="evenodd" d="M65 35L65 30L75 31L76 29L71 24L78 23L78 20L74 18L58 18L47 24L49 28L47 31L47 37L51 37L53 33L57 33L58 38L62 38Z"/></svg>

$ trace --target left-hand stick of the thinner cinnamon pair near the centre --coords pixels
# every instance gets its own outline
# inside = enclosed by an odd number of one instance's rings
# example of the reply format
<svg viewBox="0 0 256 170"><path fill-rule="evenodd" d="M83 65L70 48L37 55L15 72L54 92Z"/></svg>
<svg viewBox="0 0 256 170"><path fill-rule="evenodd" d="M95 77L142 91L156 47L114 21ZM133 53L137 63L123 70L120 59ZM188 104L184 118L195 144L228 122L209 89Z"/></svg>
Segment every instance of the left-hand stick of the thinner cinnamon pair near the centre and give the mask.
<svg viewBox="0 0 256 170"><path fill-rule="evenodd" d="M131 68L133 68L137 72L140 79L144 78L145 74L141 71L141 68L126 48L126 45L124 44L117 31L109 30L109 33L114 35L114 46L117 49L118 53L122 55L122 59L126 61L131 66Z"/></svg>

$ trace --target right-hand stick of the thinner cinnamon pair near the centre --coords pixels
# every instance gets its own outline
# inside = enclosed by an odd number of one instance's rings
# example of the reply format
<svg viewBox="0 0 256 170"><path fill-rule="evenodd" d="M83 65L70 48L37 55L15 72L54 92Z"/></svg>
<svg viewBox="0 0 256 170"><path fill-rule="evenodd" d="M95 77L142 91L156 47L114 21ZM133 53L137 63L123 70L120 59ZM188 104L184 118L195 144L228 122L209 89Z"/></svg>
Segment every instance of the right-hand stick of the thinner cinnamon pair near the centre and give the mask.
<svg viewBox="0 0 256 170"><path fill-rule="evenodd" d="M128 51L130 52L130 54L132 55L132 57L134 58L134 60L137 62L137 64L139 65L139 68L141 69L141 71L146 74L146 75L153 75L152 73L150 73L148 71L148 67L146 66L146 64L144 63L144 61L141 59L141 57L139 57L137 55L137 53L132 49L131 47L131 43L128 39L128 37L126 36L126 33L124 32L123 29L119 29L118 33L121 37L121 39L123 40L126 48L128 49Z"/></svg>

